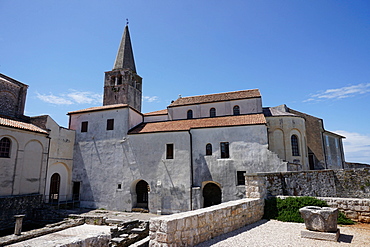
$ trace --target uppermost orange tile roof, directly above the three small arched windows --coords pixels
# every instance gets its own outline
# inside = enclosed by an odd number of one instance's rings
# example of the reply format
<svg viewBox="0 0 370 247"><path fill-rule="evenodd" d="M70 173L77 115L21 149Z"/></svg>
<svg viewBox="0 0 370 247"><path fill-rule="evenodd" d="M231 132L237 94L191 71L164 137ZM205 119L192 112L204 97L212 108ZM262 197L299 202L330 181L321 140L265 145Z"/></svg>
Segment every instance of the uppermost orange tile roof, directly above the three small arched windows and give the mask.
<svg viewBox="0 0 370 247"><path fill-rule="evenodd" d="M258 98L261 94L258 89L235 91L228 93L217 93L217 94L207 94L200 96L182 97L178 98L172 102L169 107L182 106L182 105L193 105L200 103L212 103L218 101L228 101L228 100L238 100L238 99L248 99L248 98Z"/></svg>

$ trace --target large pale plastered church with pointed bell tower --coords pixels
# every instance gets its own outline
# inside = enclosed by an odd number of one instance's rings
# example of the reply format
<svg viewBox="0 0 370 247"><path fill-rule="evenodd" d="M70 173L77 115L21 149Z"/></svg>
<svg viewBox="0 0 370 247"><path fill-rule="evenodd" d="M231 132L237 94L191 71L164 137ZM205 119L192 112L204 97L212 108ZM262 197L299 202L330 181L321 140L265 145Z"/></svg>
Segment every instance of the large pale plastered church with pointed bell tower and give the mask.
<svg viewBox="0 0 370 247"><path fill-rule="evenodd" d="M82 207L170 214L245 197L244 173L344 166L342 136L286 105L263 107L258 89L180 97L145 114L141 104L126 26L103 106L68 113L69 193L78 188Z"/></svg>

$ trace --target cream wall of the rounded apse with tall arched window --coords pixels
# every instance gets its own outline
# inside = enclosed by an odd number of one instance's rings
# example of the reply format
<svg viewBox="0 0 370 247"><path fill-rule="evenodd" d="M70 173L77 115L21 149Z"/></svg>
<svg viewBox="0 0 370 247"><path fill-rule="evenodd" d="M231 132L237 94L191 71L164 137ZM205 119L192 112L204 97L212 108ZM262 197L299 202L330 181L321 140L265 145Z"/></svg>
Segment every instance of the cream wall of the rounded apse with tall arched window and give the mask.
<svg viewBox="0 0 370 247"><path fill-rule="evenodd" d="M308 170L308 150L306 143L305 120L294 116L266 117L269 131L269 149L279 158L291 163L299 163L301 169ZM297 135L299 156L292 155L291 136Z"/></svg>

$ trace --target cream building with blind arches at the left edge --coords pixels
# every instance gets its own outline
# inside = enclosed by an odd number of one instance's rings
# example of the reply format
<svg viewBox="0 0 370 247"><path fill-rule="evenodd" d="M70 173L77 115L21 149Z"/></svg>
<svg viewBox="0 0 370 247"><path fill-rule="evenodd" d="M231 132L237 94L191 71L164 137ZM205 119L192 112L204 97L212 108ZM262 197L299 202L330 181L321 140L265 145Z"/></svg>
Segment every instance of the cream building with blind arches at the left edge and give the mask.
<svg viewBox="0 0 370 247"><path fill-rule="evenodd" d="M75 131L24 115L28 86L0 74L0 229L43 202L72 199Z"/></svg>

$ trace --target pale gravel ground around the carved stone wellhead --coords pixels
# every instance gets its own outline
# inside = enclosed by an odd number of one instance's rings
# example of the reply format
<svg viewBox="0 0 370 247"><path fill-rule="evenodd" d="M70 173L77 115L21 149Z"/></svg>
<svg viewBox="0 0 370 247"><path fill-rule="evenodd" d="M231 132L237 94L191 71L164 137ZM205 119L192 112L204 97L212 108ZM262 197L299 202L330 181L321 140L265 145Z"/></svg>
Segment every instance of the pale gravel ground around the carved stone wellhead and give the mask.
<svg viewBox="0 0 370 247"><path fill-rule="evenodd" d="M303 223L260 220L233 232L203 242L197 247L207 246L370 246L370 229L341 226L338 242L301 238Z"/></svg>

